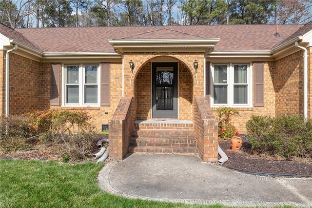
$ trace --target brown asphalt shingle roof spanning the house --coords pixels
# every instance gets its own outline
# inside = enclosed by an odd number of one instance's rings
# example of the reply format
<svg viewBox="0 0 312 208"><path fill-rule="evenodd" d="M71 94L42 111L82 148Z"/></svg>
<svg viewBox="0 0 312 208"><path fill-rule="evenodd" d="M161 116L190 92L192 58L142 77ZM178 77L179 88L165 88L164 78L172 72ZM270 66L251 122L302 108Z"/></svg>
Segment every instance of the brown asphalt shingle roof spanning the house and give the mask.
<svg viewBox="0 0 312 208"><path fill-rule="evenodd" d="M215 51L272 50L292 36L311 30L307 25L190 25L141 27L58 27L15 29L1 33L44 53L113 52L108 42L136 39L215 39ZM5 28L3 30L3 28ZM290 39L291 40L291 39Z"/></svg>

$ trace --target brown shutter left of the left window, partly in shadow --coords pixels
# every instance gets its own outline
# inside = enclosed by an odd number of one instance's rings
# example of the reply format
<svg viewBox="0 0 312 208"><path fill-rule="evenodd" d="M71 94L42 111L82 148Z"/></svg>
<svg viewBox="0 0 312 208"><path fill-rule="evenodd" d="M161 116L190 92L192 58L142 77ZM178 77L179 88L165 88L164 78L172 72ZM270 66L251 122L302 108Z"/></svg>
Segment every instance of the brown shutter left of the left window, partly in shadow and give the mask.
<svg viewBox="0 0 312 208"><path fill-rule="evenodd" d="M59 106L59 69L60 64L51 64L51 98L50 105Z"/></svg>

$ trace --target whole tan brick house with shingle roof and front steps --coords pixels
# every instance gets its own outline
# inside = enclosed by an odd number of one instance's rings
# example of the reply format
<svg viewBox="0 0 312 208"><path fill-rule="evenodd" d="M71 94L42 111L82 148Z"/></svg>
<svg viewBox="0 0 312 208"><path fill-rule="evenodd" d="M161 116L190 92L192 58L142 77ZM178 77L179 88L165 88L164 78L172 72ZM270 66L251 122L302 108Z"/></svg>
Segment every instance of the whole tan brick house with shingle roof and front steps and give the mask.
<svg viewBox="0 0 312 208"><path fill-rule="evenodd" d="M99 130L109 125L110 157L115 159L153 151L196 153L205 162L216 162L215 107L239 111L233 119L239 133L246 132L252 115L312 118L312 22L279 25L279 34L275 29L198 25L13 30L0 25L0 111L83 109ZM295 42L308 52L306 67L305 52Z"/></svg>

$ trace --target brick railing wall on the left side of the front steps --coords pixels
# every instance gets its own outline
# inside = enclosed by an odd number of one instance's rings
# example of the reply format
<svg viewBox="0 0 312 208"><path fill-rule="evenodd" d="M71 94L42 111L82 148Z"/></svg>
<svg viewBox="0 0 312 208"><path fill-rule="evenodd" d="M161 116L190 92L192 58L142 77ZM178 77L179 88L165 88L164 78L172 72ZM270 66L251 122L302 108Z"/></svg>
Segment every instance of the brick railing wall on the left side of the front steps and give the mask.
<svg viewBox="0 0 312 208"><path fill-rule="evenodd" d="M109 121L109 156L122 160L128 153L131 132L135 123L133 97L122 97L111 121Z"/></svg>

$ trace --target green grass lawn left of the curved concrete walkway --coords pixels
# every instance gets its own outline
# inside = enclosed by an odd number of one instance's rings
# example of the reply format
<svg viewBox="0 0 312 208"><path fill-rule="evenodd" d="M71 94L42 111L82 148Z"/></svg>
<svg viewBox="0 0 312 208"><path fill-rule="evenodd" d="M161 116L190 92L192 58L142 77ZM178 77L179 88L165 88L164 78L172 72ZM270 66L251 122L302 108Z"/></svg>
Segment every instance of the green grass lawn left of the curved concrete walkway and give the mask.
<svg viewBox="0 0 312 208"><path fill-rule="evenodd" d="M103 164L0 159L0 205L19 208L223 208L126 199L98 187ZM3 206L2 206L3 207Z"/></svg>

